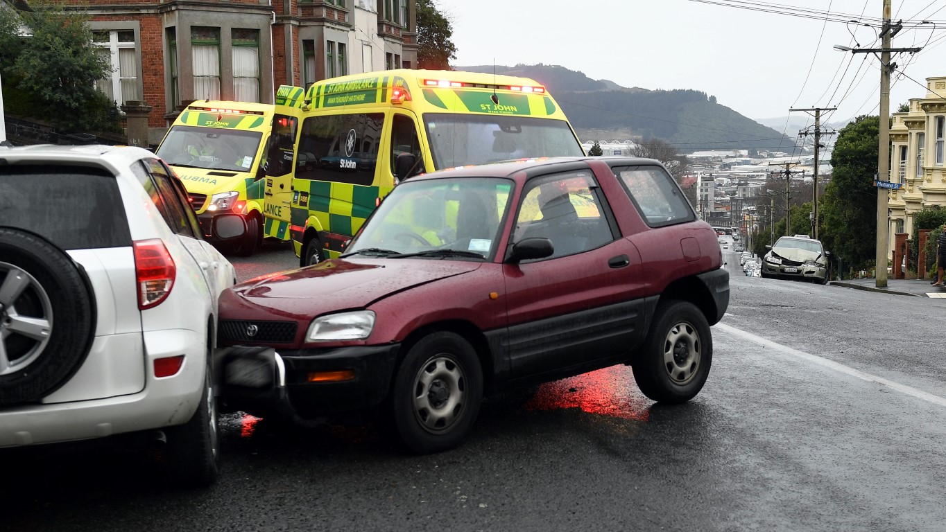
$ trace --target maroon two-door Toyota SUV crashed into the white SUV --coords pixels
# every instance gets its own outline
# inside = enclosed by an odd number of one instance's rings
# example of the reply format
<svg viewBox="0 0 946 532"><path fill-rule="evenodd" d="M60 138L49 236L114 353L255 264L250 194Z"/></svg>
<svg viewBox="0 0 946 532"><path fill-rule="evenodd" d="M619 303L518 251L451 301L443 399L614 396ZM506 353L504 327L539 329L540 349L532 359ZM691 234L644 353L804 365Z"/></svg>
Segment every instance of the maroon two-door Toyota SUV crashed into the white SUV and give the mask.
<svg viewBox="0 0 946 532"><path fill-rule="evenodd" d="M683 403L710 372L721 265L656 161L434 172L398 185L341 258L223 293L219 344L239 347L218 353L221 393L263 416L386 408L418 453L457 445L483 394L615 364Z"/></svg>

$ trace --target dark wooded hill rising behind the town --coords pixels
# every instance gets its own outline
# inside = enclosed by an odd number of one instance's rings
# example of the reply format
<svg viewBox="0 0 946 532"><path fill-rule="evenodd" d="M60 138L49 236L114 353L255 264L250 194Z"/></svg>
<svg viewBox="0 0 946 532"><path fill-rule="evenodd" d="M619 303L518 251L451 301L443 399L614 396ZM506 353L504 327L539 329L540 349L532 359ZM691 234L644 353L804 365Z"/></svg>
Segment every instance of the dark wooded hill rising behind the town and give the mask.
<svg viewBox="0 0 946 532"><path fill-rule="evenodd" d="M455 67L494 72L493 65ZM496 74L531 77L547 87L583 140L657 137L680 151L777 149L791 151L794 136L782 135L692 89L672 91L622 87L607 79L558 65L495 67Z"/></svg>

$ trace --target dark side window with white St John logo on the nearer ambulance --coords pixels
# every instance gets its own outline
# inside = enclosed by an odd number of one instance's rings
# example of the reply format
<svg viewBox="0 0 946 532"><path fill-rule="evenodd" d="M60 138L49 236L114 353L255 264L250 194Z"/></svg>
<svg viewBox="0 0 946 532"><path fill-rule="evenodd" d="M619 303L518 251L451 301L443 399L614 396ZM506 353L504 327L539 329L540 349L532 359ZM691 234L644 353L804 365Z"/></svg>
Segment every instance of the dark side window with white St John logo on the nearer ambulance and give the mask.
<svg viewBox="0 0 946 532"><path fill-rule="evenodd" d="M299 136L296 177L370 185L383 125L380 112L308 117Z"/></svg>

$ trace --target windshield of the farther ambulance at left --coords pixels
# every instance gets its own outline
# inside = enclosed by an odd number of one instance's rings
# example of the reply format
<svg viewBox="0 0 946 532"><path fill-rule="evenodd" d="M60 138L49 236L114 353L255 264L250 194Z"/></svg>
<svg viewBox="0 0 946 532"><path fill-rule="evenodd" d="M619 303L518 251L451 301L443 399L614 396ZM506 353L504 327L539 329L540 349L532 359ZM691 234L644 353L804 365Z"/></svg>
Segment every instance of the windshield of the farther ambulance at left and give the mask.
<svg viewBox="0 0 946 532"><path fill-rule="evenodd" d="M262 136L258 131L174 126L155 153L175 166L248 172Z"/></svg>

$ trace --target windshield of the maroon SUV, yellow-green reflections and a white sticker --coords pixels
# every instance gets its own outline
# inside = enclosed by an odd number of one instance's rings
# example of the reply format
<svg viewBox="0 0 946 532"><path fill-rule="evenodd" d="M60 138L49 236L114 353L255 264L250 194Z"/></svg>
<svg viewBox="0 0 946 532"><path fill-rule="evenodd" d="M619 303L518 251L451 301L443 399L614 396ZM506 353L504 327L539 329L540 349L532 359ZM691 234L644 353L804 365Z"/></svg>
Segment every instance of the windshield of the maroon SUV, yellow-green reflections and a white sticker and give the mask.
<svg viewBox="0 0 946 532"><path fill-rule="evenodd" d="M406 181L385 197L344 256L492 257L512 189L513 181L498 178Z"/></svg>

